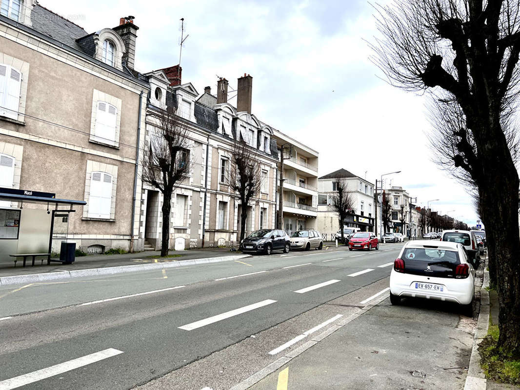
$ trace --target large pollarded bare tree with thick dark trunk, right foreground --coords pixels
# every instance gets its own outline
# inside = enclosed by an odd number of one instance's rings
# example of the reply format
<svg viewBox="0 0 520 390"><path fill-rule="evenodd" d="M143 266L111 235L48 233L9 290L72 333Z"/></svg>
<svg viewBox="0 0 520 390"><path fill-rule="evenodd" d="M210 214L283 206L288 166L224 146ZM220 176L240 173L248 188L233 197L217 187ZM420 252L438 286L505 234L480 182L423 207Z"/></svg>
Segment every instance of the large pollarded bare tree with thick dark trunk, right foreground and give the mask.
<svg viewBox="0 0 520 390"><path fill-rule="evenodd" d="M446 161L475 185L489 247L498 259L498 347L520 355L520 180L509 135L520 93L520 5L395 0L376 10L382 37L372 45L374 62L388 81L407 90L428 90L443 109L458 112L456 128L441 123L455 141L447 141L454 149Z"/></svg>

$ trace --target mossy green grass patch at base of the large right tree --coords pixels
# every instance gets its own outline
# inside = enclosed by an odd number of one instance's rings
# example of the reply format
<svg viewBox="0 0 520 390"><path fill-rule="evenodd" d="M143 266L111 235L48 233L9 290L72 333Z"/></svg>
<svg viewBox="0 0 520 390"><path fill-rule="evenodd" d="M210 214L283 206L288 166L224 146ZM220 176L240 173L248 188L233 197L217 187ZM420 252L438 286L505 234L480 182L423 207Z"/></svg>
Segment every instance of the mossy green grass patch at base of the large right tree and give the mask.
<svg viewBox="0 0 520 390"><path fill-rule="evenodd" d="M480 365L484 369L486 378L502 383L520 385L520 360L502 353L502 348L497 348L500 332L498 323L493 323L489 316L488 335L478 346L480 353Z"/></svg>

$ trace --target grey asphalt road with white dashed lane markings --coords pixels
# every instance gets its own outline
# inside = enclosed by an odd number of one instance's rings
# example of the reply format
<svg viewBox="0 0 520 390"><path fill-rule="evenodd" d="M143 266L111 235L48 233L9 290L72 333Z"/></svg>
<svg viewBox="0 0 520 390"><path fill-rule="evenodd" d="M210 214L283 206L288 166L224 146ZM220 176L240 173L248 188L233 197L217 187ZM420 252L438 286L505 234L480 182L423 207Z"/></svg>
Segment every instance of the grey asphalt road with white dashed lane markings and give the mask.
<svg viewBox="0 0 520 390"><path fill-rule="evenodd" d="M126 389L167 373L143 388L229 388L294 333L387 287L401 246L2 287L0 389ZM220 369L230 353L244 356Z"/></svg>

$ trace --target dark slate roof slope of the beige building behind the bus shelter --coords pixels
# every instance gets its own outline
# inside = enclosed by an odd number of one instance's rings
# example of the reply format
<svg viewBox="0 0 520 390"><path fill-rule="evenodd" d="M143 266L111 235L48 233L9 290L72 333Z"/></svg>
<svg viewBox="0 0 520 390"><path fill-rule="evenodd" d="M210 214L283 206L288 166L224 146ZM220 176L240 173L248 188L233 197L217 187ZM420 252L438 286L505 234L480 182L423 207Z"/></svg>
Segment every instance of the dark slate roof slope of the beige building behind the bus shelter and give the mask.
<svg viewBox="0 0 520 390"><path fill-rule="evenodd" d="M88 33L79 25L55 14L41 5L36 5L31 11L32 27L39 33L50 36L67 46L83 51L76 42Z"/></svg>

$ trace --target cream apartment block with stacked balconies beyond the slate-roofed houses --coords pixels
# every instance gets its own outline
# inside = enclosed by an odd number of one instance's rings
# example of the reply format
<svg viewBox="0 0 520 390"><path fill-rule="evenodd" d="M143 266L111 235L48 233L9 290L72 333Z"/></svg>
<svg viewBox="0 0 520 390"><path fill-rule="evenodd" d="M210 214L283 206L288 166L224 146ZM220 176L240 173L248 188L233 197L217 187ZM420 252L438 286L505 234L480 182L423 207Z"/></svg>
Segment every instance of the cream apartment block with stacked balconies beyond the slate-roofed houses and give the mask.
<svg viewBox="0 0 520 390"><path fill-rule="evenodd" d="M271 139L281 157L284 153L283 166L278 161L278 172L283 170L283 184L277 180L278 213L283 214L282 229L289 235L296 230L316 229L318 216L318 155L314 149L272 129ZM282 197L280 212L279 197Z"/></svg>

